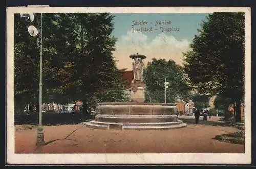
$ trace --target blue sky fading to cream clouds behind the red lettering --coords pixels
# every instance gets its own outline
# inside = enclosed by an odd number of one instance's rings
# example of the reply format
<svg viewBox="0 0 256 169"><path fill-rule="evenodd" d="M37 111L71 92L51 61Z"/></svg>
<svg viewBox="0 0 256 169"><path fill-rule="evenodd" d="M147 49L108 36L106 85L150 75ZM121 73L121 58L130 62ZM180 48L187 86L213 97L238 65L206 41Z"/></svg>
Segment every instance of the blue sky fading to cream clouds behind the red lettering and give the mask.
<svg viewBox="0 0 256 169"><path fill-rule="evenodd" d="M182 65L182 52L208 13L113 13L113 36L117 38L113 57L117 67L132 70L133 54L142 54L146 65L153 58L172 59Z"/></svg>

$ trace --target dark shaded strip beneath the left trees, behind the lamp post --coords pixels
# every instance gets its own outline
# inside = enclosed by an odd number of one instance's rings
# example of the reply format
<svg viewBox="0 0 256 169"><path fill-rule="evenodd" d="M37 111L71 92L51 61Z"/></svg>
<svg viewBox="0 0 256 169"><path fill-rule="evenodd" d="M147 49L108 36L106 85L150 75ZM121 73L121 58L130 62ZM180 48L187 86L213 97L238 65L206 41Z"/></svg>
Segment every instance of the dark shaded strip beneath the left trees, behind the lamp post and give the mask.
<svg viewBox="0 0 256 169"><path fill-rule="evenodd" d="M31 114L17 114L14 116L15 125L37 125L39 115L38 113ZM42 125L55 126L55 125L75 125L82 122L87 122L94 119L94 115L81 113L43 113Z"/></svg>

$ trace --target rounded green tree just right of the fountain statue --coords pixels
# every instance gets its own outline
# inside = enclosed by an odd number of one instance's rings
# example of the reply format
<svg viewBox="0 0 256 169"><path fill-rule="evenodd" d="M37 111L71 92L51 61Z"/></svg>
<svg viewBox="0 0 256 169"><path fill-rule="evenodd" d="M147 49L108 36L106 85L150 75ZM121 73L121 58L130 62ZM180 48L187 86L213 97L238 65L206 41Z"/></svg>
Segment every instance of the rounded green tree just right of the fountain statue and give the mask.
<svg viewBox="0 0 256 169"><path fill-rule="evenodd" d="M164 82L169 82L166 89L166 102L174 103L177 99L188 101L190 99L189 87L185 83L183 68L173 60L152 59L144 70L143 80L146 84L146 102L164 102Z"/></svg>

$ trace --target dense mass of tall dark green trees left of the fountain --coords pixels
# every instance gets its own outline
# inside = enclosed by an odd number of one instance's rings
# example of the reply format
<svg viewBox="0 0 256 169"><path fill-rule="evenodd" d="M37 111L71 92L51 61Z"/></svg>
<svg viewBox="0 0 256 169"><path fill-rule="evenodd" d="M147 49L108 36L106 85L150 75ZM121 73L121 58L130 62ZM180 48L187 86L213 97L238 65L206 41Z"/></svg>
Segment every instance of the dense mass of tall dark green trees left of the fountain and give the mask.
<svg viewBox="0 0 256 169"><path fill-rule="evenodd" d="M121 71L112 52L116 38L108 13L43 14L43 102L122 101ZM40 15L35 14L35 23ZM38 103L39 45L15 15L15 103ZM22 105L22 104L20 104Z"/></svg>

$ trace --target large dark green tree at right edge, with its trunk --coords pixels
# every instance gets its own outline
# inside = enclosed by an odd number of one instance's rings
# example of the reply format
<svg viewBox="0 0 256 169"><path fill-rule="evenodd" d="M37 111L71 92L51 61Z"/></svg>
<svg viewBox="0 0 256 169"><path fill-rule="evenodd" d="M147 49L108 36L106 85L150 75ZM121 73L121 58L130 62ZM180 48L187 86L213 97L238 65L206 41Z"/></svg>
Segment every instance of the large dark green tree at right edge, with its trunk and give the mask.
<svg viewBox="0 0 256 169"><path fill-rule="evenodd" d="M240 107L244 97L244 13L213 13L184 53L191 86L211 95L225 95ZM240 109L236 121L241 122Z"/></svg>

